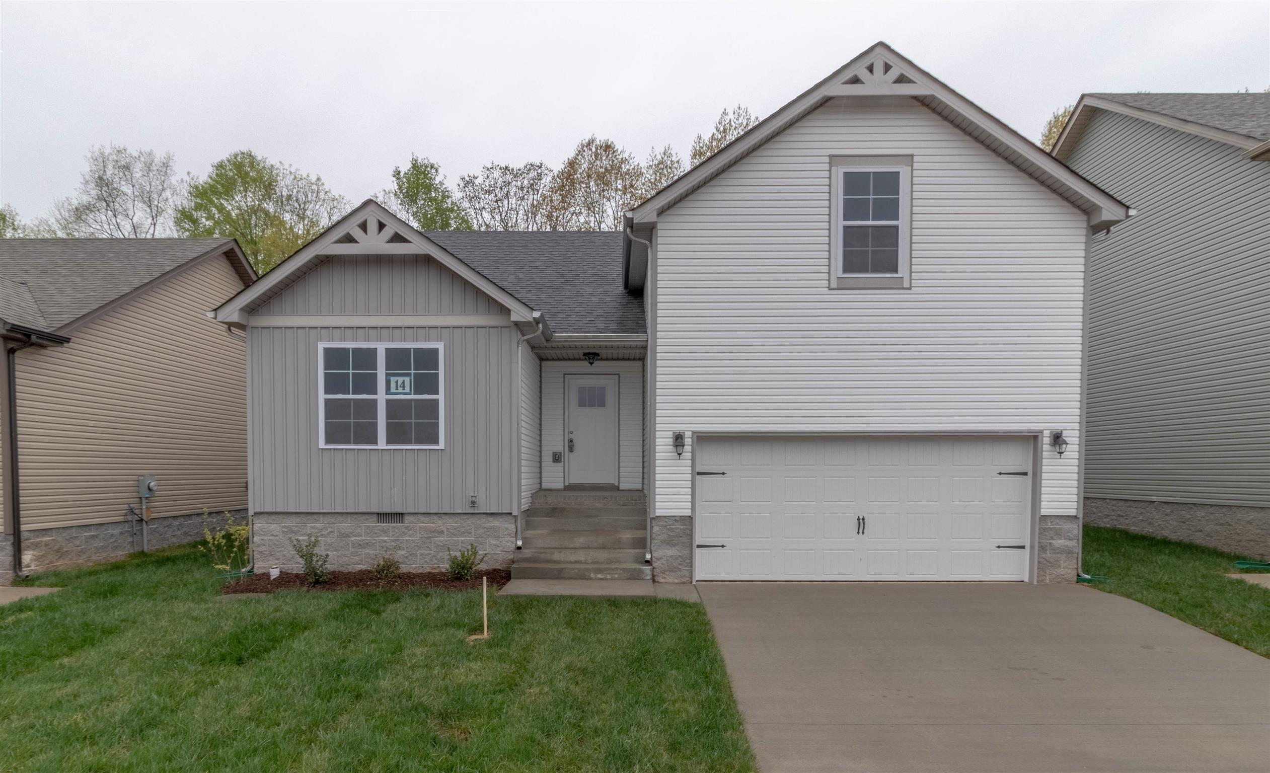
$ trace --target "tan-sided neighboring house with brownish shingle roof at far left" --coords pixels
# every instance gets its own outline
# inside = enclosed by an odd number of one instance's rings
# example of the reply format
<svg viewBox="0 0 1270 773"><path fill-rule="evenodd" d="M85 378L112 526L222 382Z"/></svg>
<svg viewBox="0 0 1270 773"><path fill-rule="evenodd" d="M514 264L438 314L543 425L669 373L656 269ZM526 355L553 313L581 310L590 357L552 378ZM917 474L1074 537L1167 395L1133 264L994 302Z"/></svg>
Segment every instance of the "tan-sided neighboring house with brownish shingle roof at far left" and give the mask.
<svg viewBox="0 0 1270 773"><path fill-rule="evenodd" d="M203 312L254 281L225 239L0 240L0 583L246 506L244 341Z"/></svg>

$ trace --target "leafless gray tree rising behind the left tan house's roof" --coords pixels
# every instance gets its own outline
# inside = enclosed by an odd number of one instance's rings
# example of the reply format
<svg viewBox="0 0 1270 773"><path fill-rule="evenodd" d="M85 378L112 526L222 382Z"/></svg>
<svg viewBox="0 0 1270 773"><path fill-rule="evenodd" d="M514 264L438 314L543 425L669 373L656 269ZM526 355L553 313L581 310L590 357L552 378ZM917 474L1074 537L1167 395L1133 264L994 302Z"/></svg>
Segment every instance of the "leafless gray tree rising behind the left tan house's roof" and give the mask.
<svg viewBox="0 0 1270 773"><path fill-rule="evenodd" d="M64 236L154 239L173 232L177 170L171 154L93 147L88 170L70 198L53 203L52 225Z"/></svg>

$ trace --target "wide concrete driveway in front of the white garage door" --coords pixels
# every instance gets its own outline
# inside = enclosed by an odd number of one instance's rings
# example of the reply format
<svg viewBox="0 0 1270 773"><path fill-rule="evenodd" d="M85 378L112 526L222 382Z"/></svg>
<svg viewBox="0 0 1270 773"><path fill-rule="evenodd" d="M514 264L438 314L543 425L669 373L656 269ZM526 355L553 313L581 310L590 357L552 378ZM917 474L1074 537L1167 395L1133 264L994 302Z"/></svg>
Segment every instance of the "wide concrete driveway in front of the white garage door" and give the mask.
<svg viewBox="0 0 1270 773"><path fill-rule="evenodd" d="M1270 770L1270 660L1128 599L1021 583L697 589L765 773Z"/></svg>

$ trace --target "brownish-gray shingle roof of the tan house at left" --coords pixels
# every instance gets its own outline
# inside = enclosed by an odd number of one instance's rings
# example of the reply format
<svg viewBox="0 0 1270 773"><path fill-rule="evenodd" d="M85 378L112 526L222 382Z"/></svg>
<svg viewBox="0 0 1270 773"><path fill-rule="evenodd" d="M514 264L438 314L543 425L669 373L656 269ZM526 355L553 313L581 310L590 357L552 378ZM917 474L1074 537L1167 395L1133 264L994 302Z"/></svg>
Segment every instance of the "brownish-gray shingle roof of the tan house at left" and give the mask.
<svg viewBox="0 0 1270 773"><path fill-rule="evenodd" d="M34 326L52 331L220 245L230 249L226 239L0 239L0 317L29 324L17 317L33 306Z"/></svg>

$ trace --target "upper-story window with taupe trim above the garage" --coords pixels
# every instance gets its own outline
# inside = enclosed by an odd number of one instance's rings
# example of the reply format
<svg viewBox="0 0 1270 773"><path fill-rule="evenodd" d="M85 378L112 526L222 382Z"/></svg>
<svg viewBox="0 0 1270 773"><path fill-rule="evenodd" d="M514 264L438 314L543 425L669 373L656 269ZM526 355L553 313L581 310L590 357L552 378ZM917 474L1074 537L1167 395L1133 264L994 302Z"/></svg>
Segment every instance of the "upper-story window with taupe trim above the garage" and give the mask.
<svg viewBox="0 0 1270 773"><path fill-rule="evenodd" d="M912 159L832 159L829 286L842 289L909 287Z"/></svg>

